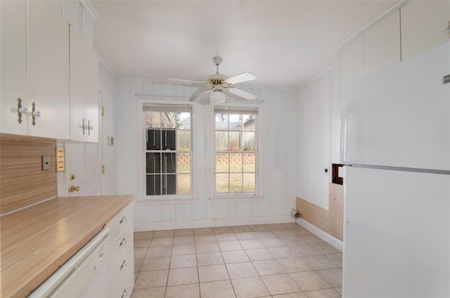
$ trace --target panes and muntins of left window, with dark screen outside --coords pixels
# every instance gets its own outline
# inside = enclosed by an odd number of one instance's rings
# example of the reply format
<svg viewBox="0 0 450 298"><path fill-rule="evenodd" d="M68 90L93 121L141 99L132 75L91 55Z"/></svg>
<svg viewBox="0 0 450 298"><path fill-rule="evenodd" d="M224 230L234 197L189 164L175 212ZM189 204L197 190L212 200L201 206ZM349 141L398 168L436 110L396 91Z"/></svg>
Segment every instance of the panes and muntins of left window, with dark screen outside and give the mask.
<svg viewBox="0 0 450 298"><path fill-rule="evenodd" d="M191 107L143 104L146 196L192 194Z"/></svg>

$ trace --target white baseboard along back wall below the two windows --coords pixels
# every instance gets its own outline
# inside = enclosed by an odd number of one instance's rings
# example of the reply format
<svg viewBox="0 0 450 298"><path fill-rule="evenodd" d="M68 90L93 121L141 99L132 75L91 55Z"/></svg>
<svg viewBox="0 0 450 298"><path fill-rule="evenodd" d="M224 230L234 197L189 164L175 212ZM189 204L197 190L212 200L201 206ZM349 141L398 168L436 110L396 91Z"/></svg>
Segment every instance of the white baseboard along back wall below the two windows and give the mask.
<svg viewBox="0 0 450 298"><path fill-rule="evenodd" d="M223 218L223 219L202 219L188 222L151 222L135 223L134 231L161 231L173 229L195 229L210 228L214 226L247 226L250 224L286 224L295 222L295 218L290 215L271 217L243 217L243 218Z"/></svg>

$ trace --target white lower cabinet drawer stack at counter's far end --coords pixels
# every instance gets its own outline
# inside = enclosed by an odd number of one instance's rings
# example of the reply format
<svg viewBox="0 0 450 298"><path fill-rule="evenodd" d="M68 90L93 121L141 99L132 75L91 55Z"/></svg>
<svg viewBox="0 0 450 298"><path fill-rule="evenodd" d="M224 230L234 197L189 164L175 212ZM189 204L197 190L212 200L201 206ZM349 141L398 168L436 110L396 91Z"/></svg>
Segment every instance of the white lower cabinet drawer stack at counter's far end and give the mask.
<svg viewBox="0 0 450 298"><path fill-rule="evenodd" d="M133 203L106 226L110 228L108 297L130 297L134 287Z"/></svg>

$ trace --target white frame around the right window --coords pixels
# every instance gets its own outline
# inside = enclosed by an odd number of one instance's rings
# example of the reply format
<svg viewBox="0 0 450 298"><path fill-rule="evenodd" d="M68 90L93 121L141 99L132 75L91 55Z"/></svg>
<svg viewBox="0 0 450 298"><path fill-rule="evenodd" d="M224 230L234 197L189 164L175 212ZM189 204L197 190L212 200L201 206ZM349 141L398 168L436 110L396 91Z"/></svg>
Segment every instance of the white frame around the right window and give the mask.
<svg viewBox="0 0 450 298"><path fill-rule="evenodd" d="M257 161L256 161L256 191L255 194L249 194L249 193L230 193L230 194L224 194L224 193L216 193L216 178L215 178L215 172L216 172L216 163L215 163L215 156L216 156L216 123L215 123L215 112L214 108L229 108L233 110L239 110L243 113L245 113L245 110L247 111L253 111L257 109L257 121L256 121L256 132L255 132L255 138L256 138L256 144L257 144ZM263 151L262 151L262 144L263 144L263 133L262 133L262 123L263 123L263 117L262 117L262 102L251 102L249 104L240 104L240 103L233 103L233 104L218 104L217 106L210 105L210 146L208 148L208 151L210 152L210 201L217 201L217 202L233 202L233 201L262 201L262 198L264 198L263 194L263 185L262 185L262 167L263 167Z"/></svg>

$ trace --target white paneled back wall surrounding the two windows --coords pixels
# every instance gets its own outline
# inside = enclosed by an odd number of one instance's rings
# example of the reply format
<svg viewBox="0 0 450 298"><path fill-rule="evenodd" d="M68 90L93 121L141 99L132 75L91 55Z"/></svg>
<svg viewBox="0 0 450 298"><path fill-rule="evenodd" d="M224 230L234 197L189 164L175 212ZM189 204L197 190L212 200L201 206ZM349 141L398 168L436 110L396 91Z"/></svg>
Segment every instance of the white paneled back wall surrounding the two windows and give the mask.
<svg viewBox="0 0 450 298"><path fill-rule="evenodd" d="M117 134L117 187L120 194L134 194L138 189L138 100L188 100L197 88L148 81L120 81L120 134ZM193 203L148 204L136 202L135 230L173 229L189 226L293 222L290 208L295 207L296 126L293 90L246 89L258 95L262 118L262 181L264 196L260 201L220 201L209 196L208 104L193 107ZM137 96L136 93L147 96ZM227 95L227 102L236 100ZM220 219L220 220L219 220Z"/></svg>

